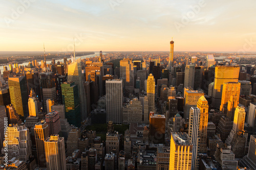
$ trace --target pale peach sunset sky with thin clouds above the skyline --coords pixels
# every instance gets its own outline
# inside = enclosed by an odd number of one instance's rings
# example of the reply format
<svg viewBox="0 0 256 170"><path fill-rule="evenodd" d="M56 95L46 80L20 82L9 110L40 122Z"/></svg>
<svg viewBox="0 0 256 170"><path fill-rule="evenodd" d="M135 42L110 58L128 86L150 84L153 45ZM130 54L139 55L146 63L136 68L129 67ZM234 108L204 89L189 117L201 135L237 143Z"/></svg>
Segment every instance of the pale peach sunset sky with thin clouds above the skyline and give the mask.
<svg viewBox="0 0 256 170"><path fill-rule="evenodd" d="M0 0L0 51L256 52L255 0Z"/></svg>

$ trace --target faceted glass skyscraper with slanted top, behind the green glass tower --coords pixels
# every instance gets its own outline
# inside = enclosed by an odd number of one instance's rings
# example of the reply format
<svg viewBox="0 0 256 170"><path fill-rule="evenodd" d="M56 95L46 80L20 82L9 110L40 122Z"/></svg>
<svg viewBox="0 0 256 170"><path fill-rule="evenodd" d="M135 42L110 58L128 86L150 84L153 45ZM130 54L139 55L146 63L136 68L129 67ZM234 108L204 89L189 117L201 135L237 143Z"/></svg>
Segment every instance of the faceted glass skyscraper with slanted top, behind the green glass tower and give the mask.
<svg viewBox="0 0 256 170"><path fill-rule="evenodd" d="M87 102L82 83L81 58L77 59L69 65L68 81L75 82L75 84L78 86L81 119L84 120L87 118Z"/></svg>

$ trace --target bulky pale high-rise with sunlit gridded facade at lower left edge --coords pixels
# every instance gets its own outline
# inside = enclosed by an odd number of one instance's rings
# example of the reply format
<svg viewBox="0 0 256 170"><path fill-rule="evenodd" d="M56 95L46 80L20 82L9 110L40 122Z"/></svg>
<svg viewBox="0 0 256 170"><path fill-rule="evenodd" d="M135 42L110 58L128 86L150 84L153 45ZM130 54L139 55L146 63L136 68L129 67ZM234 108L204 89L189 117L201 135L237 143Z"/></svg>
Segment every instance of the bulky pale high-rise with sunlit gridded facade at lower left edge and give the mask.
<svg viewBox="0 0 256 170"><path fill-rule="evenodd" d="M29 130L25 127L25 124L9 125L5 135L2 154L7 153L9 160L16 157L21 161L28 161L32 155L32 143Z"/></svg>

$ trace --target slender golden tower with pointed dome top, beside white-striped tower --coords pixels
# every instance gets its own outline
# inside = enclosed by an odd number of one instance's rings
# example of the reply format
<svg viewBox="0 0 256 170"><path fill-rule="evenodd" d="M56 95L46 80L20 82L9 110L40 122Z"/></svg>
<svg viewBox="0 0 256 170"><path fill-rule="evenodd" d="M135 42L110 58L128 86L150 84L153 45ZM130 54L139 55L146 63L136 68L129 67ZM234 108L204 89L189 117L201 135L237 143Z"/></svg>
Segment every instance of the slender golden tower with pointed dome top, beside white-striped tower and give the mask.
<svg viewBox="0 0 256 170"><path fill-rule="evenodd" d="M206 143L207 143L207 125L208 125L208 102L202 95L198 102L197 108L200 109L200 124L199 124L199 152L206 153Z"/></svg>

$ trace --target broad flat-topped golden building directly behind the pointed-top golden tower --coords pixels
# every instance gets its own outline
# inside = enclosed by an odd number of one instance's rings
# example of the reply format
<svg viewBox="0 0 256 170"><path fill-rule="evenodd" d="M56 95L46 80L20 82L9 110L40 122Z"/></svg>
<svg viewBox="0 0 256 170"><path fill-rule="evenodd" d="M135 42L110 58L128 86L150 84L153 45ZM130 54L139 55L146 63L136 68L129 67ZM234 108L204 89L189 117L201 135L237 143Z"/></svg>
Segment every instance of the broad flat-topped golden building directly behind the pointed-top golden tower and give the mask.
<svg viewBox="0 0 256 170"><path fill-rule="evenodd" d="M204 93L201 91L195 90L185 90L184 91L184 118L189 118L189 110L191 107L196 107L197 102L201 96L204 96Z"/></svg>

